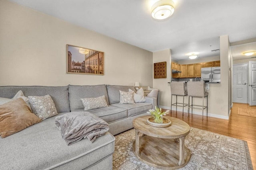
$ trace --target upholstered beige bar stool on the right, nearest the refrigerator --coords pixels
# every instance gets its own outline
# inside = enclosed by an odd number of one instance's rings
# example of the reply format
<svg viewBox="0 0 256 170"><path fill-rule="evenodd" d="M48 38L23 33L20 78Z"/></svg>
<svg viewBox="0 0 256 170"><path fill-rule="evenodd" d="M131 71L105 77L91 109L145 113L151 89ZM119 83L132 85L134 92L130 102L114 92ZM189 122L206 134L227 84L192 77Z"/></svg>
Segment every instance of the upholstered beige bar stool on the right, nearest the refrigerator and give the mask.
<svg viewBox="0 0 256 170"><path fill-rule="evenodd" d="M188 116L189 109L191 108L191 113L193 114L193 109L202 109L202 120L204 119L204 109L206 109L206 116L208 115L208 92L205 92L204 89L204 81L200 82L188 82ZM190 105L190 97L191 97L191 105ZM202 106L201 105L193 105L193 98L202 98ZM204 106L204 98L206 97L207 102L206 106ZM198 107L194 107L198 106ZM202 108L200 108L202 107Z"/></svg>

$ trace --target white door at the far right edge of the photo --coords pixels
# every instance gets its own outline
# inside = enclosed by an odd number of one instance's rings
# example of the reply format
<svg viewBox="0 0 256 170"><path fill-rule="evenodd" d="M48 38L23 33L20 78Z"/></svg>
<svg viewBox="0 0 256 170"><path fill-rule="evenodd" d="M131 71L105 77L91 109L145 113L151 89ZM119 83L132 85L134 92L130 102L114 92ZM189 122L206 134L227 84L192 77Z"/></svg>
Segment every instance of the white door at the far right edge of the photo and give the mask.
<svg viewBox="0 0 256 170"><path fill-rule="evenodd" d="M249 61L249 104L256 106L256 61Z"/></svg>

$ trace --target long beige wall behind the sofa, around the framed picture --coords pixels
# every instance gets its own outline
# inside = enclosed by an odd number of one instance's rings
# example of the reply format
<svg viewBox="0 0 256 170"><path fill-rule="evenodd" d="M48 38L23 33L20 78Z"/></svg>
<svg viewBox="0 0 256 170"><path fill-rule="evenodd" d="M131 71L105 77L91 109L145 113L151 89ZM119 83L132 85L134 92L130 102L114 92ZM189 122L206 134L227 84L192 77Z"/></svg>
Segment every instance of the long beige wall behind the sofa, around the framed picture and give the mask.
<svg viewBox="0 0 256 170"><path fill-rule="evenodd" d="M67 74L66 44L103 51L105 74ZM153 86L152 61L150 51L0 0L0 86Z"/></svg>

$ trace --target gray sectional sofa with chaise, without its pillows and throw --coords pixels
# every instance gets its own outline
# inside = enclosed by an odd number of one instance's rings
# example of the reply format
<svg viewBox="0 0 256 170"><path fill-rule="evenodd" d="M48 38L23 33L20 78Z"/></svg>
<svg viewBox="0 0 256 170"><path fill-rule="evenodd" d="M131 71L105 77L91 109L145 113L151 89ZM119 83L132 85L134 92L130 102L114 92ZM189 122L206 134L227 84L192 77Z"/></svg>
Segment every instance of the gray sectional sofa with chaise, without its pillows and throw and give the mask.
<svg viewBox="0 0 256 170"><path fill-rule="evenodd" d="M58 115L83 111L81 98L105 96L108 107L89 110L109 124L109 131L90 143L83 139L66 145L54 125L56 116L26 129L0 138L0 167L4 170L111 170L115 138L113 135L132 128L134 118L146 115L156 105L156 98L145 97L146 102L119 104L119 90L128 92L133 86L0 86L0 97L12 98L19 90L24 96L49 94Z"/></svg>

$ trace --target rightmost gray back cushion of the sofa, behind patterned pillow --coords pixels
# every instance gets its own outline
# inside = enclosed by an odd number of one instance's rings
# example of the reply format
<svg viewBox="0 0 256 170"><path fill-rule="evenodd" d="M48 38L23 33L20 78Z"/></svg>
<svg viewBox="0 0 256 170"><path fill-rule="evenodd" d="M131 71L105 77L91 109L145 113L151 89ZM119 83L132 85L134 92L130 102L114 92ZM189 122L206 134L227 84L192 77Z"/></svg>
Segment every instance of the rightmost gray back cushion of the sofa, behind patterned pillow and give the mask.
<svg viewBox="0 0 256 170"><path fill-rule="evenodd" d="M109 104L119 103L120 102L119 90L128 92L129 88L134 92L136 92L134 86L107 85Z"/></svg>

